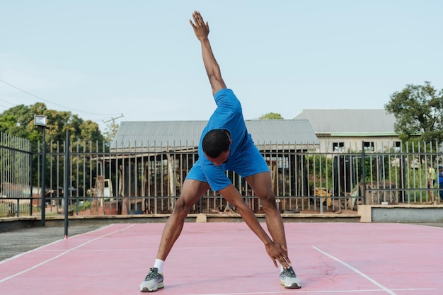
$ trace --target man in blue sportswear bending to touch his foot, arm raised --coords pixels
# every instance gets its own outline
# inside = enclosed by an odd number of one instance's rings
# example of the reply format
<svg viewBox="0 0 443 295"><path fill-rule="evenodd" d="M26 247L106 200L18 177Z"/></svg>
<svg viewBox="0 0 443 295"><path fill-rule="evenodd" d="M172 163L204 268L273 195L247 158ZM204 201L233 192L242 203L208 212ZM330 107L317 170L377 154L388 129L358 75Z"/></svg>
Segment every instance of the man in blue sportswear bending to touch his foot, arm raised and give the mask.
<svg viewBox="0 0 443 295"><path fill-rule="evenodd" d="M190 207L197 202L209 187L218 191L229 204L236 207L246 224L265 245L267 255L275 267L280 263L280 284L285 288L300 288L301 282L292 270L287 254L286 237L282 217L272 192L270 170L263 156L248 134L240 101L231 89L226 88L209 44L209 25L203 21L198 11L192 13L197 39L202 46L203 63L212 87L217 109L202 132L198 146L198 161L192 166L183 182L176 207L166 222L154 266L149 270L140 291L156 291L163 288L163 263L168 257L173 244L183 229ZM265 211L265 220L269 237L252 210L246 205L240 192L226 177L226 170L241 175L260 198Z"/></svg>

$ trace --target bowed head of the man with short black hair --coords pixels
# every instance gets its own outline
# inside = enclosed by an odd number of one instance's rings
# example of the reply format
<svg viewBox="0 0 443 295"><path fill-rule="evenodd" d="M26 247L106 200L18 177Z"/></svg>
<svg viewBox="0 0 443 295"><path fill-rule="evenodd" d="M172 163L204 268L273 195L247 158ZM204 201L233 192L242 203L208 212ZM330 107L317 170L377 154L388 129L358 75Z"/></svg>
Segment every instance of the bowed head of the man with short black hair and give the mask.
<svg viewBox="0 0 443 295"><path fill-rule="evenodd" d="M222 129L212 129L203 137L202 149L208 160L216 166L222 165L228 159L229 146L231 139Z"/></svg>

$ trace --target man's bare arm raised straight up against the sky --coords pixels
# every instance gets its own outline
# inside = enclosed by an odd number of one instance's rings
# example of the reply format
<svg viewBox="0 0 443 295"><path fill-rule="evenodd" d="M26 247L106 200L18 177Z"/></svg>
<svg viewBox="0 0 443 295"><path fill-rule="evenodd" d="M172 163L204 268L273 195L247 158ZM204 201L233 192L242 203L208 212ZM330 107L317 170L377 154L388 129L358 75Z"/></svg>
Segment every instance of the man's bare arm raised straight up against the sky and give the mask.
<svg viewBox="0 0 443 295"><path fill-rule="evenodd" d="M212 95L214 95L220 89L226 88L226 85L222 79L219 64L217 64L217 60L215 60L211 44L207 37L207 35L209 35L209 24L203 21L203 18L198 11L192 13L192 18L194 18L194 22L191 20L189 20L189 22L192 25L192 28L194 28L195 36L197 36L197 39L200 40L202 45L203 64L205 64L209 83L211 83L212 87Z"/></svg>

